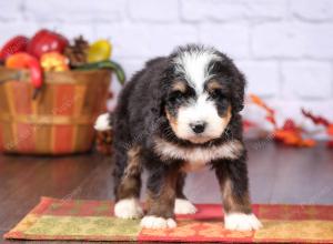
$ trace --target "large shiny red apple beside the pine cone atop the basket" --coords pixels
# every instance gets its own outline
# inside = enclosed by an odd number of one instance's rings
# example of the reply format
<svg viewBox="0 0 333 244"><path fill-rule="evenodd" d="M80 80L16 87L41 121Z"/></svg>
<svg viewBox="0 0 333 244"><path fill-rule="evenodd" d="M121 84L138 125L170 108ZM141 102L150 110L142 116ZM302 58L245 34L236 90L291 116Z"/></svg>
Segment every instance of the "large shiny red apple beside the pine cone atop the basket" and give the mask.
<svg viewBox="0 0 333 244"><path fill-rule="evenodd" d="M40 30L34 34L28 44L27 51L40 58L46 52L63 53L64 48L68 45L68 40L63 35L49 31L46 29Z"/></svg>

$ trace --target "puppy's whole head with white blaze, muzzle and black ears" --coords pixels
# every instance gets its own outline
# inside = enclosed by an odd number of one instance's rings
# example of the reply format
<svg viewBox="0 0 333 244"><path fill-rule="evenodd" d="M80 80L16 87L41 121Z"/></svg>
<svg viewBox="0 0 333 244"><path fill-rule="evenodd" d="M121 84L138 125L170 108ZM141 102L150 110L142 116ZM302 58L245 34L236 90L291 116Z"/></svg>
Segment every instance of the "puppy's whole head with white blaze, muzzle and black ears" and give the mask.
<svg viewBox="0 0 333 244"><path fill-rule="evenodd" d="M164 112L174 134L195 144L220 138L243 108L244 78L215 49L188 45L169 59Z"/></svg>

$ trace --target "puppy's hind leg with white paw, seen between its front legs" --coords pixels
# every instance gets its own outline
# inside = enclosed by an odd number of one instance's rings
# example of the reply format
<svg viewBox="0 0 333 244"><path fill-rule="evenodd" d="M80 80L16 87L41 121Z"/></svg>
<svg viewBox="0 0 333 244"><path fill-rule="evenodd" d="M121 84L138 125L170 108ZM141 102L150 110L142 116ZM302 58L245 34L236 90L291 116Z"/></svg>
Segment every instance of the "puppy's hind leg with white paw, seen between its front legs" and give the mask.
<svg viewBox="0 0 333 244"><path fill-rule="evenodd" d="M174 214L194 214L196 207L186 199L183 193L186 173L180 172L176 180Z"/></svg>

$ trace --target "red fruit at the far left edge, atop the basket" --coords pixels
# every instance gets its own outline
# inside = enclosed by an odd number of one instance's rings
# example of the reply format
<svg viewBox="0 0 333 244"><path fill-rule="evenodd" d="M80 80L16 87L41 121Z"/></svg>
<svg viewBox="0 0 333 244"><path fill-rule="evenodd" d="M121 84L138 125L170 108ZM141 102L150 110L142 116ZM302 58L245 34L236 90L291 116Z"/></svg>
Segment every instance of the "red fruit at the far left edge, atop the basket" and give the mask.
<svg viewBox="0 0 333 244"><path fill-rule="evenodd" d="M8 57L18 52L24 52L27 50L28 42L29 39L23 35L10 39L0 51L0 60L6 60Z"/></svg>

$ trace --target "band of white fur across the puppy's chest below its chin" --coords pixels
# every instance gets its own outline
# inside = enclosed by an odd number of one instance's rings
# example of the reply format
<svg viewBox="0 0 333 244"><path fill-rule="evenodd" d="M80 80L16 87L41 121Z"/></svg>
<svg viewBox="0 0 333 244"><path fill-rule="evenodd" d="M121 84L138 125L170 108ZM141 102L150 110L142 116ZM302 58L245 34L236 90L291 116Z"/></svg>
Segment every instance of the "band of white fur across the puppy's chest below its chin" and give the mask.
<svg viewBox="0 0 333 244"><path fill-rule="evenodd" d="M221 145L189 149L167 142L162 139L157 139L154 145L154 151L162 160L184 160L189 170L200 169L212 160L238 159L243 150L243 144L239 140L229 141Z"/></svg>

